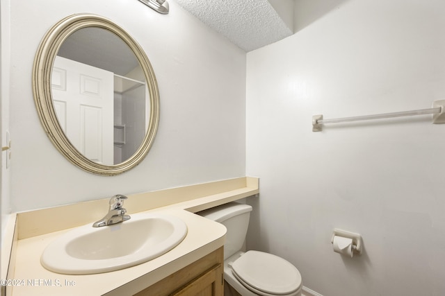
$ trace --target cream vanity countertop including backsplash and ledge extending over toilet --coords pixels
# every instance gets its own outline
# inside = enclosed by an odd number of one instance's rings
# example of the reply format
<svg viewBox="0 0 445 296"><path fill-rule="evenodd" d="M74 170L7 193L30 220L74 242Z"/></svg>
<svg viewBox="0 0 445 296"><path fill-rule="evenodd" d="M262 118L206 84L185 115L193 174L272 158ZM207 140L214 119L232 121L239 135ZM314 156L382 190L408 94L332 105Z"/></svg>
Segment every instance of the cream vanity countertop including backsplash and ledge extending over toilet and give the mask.
<svg viewBox="0 0 445 296"><path fill-rule="evenodd" d="M176 216L186 223L187 235L177 247L156 259L96 275L51 272L42 267L40 256L44 248L61 234L103 216L108 208L108 199L11 215L17 216L17 222L12 223L8 231L11 234L8 242L2 242L2 247L10 246L8 250L2 250L2 256L3 253L10 254L10 262L7 279L1 284L7 285L8 296L133 295L223 247L225 227L193 213L258 193L258 178L239 177L128 195L129 200L124 204L127 214L156 212Z"/></svg>

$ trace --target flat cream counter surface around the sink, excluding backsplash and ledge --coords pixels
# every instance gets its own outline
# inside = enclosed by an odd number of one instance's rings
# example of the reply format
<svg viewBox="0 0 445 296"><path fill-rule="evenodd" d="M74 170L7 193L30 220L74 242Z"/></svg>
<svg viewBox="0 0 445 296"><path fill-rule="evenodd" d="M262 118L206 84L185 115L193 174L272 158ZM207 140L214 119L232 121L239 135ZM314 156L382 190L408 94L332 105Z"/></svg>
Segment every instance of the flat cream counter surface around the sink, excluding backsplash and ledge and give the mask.
<svg viewBox="0 0 445 296"><path fill-rule="evenodd" d="M177 247L156 259L97 275L61 275L40 264L44 248L66 229L17 242L13 295L133 295L224 245L223 225L175 207L154 209L184 220L188 233Z"/></svg>

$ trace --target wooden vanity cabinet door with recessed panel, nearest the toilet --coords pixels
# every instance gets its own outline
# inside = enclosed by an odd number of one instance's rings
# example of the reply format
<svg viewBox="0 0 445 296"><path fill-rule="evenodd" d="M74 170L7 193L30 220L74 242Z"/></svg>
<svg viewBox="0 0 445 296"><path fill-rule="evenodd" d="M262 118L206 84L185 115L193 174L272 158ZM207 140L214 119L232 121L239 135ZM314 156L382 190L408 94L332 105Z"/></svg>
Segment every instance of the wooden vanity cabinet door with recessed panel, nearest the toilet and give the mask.
<svg viewBox="0 0 445 296"><path fill-rule="evenodd" d="M173 296L222 296L223 288L223 266L217 265L181 288Z"/></svg>

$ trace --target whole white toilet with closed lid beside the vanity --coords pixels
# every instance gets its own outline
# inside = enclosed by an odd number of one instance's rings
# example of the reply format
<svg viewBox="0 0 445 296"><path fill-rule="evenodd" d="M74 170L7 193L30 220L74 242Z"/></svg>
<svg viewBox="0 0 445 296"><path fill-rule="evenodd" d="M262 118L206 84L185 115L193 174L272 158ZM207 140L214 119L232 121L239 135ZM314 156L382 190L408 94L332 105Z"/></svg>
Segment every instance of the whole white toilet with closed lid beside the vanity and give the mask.
<svg viewBox="0 0 445 296"><path fill-rule="evenodd" d="M300 296L301 275L298 269L279 256L265 252L242 252L248 231L248 204L230 202L200 211L204 216L227 228L224 245L224 279L242 296ZM225 295L230 295L225 288Z"/></svg>

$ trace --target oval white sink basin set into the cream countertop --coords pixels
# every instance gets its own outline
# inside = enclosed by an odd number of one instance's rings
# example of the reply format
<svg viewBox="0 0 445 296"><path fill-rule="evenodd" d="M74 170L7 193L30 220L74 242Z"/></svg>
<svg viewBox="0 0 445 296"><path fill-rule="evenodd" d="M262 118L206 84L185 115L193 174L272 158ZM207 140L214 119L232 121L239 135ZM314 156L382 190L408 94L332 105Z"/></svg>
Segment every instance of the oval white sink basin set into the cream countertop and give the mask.
<svg viewBox="0 0 445 296"><path fill-rule="evenodd" d="M88 275L128 268L176 247L187 234L181 219L164 214L134 214L115 225L84 225L50 243L40 262L67 275Z"/></svg>

